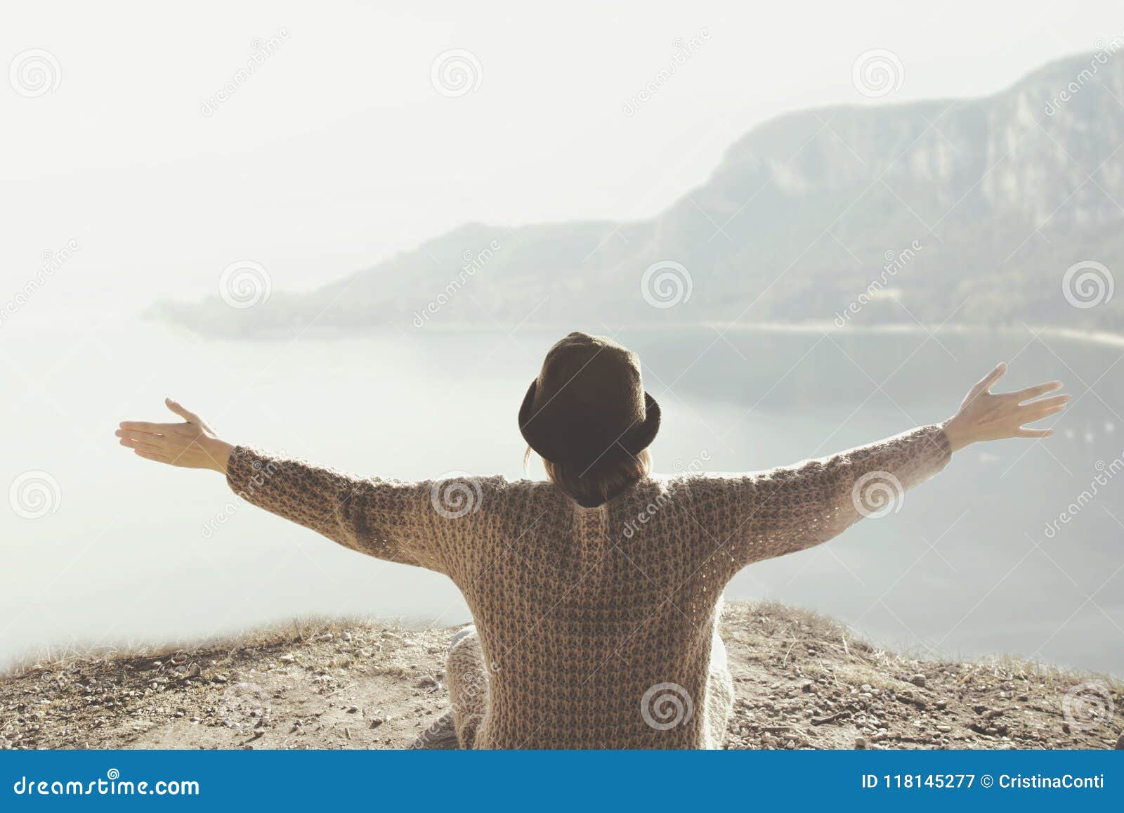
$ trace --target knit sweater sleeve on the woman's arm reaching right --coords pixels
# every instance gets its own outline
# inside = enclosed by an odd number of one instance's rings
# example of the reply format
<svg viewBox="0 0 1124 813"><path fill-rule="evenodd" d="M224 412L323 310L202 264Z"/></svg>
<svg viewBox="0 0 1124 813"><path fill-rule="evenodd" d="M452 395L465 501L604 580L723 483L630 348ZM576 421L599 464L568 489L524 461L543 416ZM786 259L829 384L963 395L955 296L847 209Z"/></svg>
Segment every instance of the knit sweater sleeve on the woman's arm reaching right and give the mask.
<svg viewBox="0 0 1124 813"><path fill-rule="evenodd" d="M691 484L694 504L711 545L728 554L736 572L826 542L863 517L900 509L905 491L951 457L944 430L922 426L796 466L699 478Z"/></svg>

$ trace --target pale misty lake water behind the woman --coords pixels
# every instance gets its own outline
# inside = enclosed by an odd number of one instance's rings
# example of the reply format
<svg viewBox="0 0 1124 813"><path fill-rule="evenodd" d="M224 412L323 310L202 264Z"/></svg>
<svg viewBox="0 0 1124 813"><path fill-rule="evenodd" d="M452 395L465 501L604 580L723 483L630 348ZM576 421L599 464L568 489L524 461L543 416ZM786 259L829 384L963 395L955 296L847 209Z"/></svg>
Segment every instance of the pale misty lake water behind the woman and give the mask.
<svg viewBox="0 0 1124 813"><path fill-rule="evenodd" d="M123 418L164 419L172 395L227 440L355 472L519 477L516 412L561 333L426 327L236 342L129 320L89 334L76 324L4 329L2 485L48 478L46 505L0 504L0 666L46 647L170 641L293 616L468 620L444 577L239 506L214 472L148 463L112 432ZM665 472L765 469L943 419L1001 360L1012 364L1005 388L1066 380L1076 401L1053 439L966 450L899 513L754 564L727 595L812 607L919 654L1004 652L1124 674L1120 347L1030 333L617 337L641 354L661 401L652 451ZM1107 481L1091 486L1102 468Z"/></svg>

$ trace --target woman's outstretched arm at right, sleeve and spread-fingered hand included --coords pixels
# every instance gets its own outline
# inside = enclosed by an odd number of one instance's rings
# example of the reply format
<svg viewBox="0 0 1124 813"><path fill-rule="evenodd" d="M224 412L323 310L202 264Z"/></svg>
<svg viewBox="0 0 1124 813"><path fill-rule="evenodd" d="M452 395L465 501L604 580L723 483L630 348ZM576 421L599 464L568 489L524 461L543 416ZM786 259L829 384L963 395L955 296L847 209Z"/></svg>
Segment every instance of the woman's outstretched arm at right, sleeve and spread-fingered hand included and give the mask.
<svg viewBox="0 0 1124 813"><path fill-rule="evenodd" d="M992 394L1006 371L1007 365L999 364L985 376L942 424L792 467L692 484L698 522L713 529L716 551L717 545L726 551L736 572L751 562L826 542L864 516L896 509L905 491L971 443L1053 434L1025 424L1066 408L1068 395L1040 397L1061 389L1061 382Z"/></svg>

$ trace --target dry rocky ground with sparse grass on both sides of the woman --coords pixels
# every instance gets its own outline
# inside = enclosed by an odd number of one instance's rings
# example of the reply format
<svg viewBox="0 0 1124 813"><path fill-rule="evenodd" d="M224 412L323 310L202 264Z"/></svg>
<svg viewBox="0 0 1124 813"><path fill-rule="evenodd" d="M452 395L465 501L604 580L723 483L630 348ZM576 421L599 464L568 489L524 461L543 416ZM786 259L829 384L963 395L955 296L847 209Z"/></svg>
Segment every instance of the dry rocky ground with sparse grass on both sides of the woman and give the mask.
<svg viewBox="0 0 1124 813"><path fill-rule="evenodd" d="M408 748L447 707L451 630L296 624L0 678L0 748ZM727 748L1124 748L1124 687L912 660L778 604L727 604Z"/></svg>

